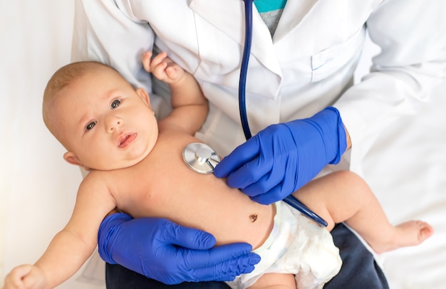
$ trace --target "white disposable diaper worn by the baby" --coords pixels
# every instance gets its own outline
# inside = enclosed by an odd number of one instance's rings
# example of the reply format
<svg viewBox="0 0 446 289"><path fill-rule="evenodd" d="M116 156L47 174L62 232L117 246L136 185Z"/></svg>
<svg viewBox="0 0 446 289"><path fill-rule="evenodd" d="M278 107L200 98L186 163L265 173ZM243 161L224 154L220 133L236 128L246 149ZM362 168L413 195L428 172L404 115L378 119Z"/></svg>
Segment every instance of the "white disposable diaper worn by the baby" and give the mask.
<svg viewBox="0 0 446 289"><path fill-rule="evenodd" d="M231 288L247 288L265 273L294 274L299 289L322 288L342 265L339 250L326 228L282 201L276 203L271 234L254 253L261 261L253 272L227 282Z"/></svg>

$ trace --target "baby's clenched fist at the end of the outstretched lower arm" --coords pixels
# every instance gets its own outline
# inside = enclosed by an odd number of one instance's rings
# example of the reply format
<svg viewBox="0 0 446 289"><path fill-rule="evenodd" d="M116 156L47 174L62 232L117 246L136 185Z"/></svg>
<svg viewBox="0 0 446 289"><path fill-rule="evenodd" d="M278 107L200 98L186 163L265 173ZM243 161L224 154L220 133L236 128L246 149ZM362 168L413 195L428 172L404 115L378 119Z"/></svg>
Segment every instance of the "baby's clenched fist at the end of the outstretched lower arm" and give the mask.
<svg viewBox="0 0 446 289"><path fill-rule="evenodd" d="M38 289L45 288L45 274L41 268L32 265L21 265L6 275L3 289Z"/></svg>

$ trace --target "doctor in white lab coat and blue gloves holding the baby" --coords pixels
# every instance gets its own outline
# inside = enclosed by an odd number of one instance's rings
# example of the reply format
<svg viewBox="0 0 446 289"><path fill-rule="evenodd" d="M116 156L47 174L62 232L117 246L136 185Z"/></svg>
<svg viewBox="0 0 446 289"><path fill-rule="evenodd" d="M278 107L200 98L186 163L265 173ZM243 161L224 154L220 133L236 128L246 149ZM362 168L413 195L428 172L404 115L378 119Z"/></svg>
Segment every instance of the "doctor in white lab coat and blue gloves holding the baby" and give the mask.
<svg viewBox="0 0 446 289"><path fill-rule="evenodd" d="M445 71L444 0L428 5L418 0L254 4L247 112L257 135L249 142L237 99L242 0L78 0L73 61L113 65L150 92L162 117L168 107L158 96L163 90L143 73L140 58L148 49L167 51L195 75L209 99L209 117L197 137L227 155L215 174L262 204L283 199L341 156L341 163L356 170L383 127L415 115ZM366 31L381 53L373 58L372 72L352 86ZM336 109L324 110L330 106ZM347 150L348 156L343 154ZM246 244L212 248L209 234L165 220L112 214L98 238L105 261L167 284L226 280L255 263ZM387 288L372 255L353 233L341 225L333 238L344 265L326 288ZM152 282L110 264L108 288L145 288Z"/></svg>

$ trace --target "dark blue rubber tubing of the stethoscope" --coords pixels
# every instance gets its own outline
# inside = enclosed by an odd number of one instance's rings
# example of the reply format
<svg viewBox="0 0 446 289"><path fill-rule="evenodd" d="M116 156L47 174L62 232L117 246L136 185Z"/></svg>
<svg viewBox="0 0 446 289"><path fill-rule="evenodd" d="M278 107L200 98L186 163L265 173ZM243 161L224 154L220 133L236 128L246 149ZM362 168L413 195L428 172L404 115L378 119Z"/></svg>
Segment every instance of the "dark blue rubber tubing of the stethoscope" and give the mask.
<svg viewBox="0 0 446 289"><path fill-rule="evenodd" d="M247 85L247 75L248 75L248 63L249 54L251 54L251 43L252 43L252 5L254 0L243 0L244 1L244 14L245 14L245 36L244 36L244 48L242 56L242 65L240 67L240 80L239 80L239 112L240 120L242 122L242 128L244 132L244 137L249 140L251 138L251 130L249 129L248 117L247 117L247 105L246 105L246 85ZM292 206L294 209L300 211L304 216L315 221L322 226L327 226L328 223L318 216L316 213L308 209L307 206L301 203L295 196L290 194L283 199L286 204Z"/></svg>

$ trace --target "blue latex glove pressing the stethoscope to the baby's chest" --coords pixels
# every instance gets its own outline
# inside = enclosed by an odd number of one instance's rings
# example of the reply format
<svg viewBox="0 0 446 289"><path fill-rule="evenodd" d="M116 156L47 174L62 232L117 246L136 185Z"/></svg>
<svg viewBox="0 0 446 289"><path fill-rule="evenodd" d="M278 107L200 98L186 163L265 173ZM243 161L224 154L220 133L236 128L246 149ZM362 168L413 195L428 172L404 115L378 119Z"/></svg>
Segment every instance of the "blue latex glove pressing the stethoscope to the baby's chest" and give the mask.
<svg viewBox="0 0 446 289"><path fill-rule="evenodd" d="M326 164L337 164L347 147L338 110L327 107L304 120L270 125L234 149L214 174L260 204L284 199Z"/></svg>

